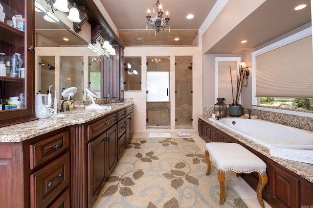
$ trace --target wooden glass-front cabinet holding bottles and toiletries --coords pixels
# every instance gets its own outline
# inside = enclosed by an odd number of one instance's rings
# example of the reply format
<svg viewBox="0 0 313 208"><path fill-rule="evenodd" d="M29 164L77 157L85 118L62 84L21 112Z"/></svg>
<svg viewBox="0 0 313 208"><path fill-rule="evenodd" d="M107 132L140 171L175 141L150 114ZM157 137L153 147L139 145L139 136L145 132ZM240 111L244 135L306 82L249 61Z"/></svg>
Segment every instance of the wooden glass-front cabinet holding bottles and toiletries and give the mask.
<svg viewBox="0 0 313 208"><path fill-rule="evenodd" d="M0 127L36 119L32 0L0 0Z"/></svg>

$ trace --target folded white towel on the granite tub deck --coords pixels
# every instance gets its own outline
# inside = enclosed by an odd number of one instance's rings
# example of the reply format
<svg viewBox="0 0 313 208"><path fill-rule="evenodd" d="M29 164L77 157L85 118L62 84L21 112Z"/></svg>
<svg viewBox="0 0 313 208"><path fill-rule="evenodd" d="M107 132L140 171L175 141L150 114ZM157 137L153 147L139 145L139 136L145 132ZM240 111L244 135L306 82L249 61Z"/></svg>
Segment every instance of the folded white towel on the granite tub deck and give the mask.
<svg viewBox="0 0 313 208"><path fill-rule="evenodd" d="M269 153L274 157L313 164L313 150L271 147Z"/></svg>

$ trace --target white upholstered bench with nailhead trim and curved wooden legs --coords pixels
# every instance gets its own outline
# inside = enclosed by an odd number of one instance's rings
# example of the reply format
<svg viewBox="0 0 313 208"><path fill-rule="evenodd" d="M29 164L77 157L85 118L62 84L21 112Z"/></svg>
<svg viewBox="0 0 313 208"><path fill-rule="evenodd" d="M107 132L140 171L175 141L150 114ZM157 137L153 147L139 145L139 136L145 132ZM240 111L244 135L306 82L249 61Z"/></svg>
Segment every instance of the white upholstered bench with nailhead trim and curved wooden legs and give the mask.
<svg viewBox="0 0 313 208"><path fill-rule="evenodd" d="M211 142L205 145L205 158L207 161L206 175L211 171L211 160L217 165L218 180L220 182L220 205L224 204L225 198L225 173L228 170L239 173L257 172L259 175L259 184L256 189L259 204L264 208L262 191L268 183L266 174L266 164L252 152L236 143Z"/></svg>

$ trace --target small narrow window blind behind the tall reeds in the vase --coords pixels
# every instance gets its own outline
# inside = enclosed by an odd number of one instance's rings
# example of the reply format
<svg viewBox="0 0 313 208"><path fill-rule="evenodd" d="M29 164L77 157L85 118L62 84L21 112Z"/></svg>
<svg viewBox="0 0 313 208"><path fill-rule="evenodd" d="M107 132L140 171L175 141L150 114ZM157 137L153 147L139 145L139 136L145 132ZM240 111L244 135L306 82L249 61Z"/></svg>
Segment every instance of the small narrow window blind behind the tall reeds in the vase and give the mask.
<svg viewBox="0 0 313 208"><path fill-rule="evenodd" d="M231 77L233 82L233 92L234 99L236 98L236 83L237 83L237 61L219 61L218 62L218 97L224 97L225 104L233 103L233 95L231 88L231 78L230 78L230 70L231 68Z"/></svg>

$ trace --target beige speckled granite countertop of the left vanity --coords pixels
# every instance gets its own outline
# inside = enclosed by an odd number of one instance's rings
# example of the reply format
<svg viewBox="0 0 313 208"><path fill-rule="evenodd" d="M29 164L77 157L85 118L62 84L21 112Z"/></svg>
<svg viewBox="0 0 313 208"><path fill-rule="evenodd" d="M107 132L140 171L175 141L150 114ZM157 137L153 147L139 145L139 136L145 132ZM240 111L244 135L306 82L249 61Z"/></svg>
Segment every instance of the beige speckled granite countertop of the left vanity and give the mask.
<svg viewBox="0 0 313 208"><path fill-rule="evenodd" d="M112 103L106 106L111 106L110 111L90 111L85 109L70 109L64 117L49 117L29 121L21 124L0 128L0 142L22 142L48 132L52 132L63 127L76 124L84 124L104 115L108 115L119 110L133 105L133 102L127 103ZM90 113L87 113L90 112ZM1 145L1 144L0 144Z"/></svg>

